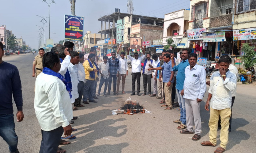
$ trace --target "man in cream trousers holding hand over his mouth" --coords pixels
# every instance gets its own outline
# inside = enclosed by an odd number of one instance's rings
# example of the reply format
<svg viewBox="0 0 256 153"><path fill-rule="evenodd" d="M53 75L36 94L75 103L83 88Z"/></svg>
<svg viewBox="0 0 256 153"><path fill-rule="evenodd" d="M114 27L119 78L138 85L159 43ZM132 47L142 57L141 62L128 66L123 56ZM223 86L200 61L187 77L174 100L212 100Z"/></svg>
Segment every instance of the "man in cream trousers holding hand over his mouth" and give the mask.
<svg viewBox="0 0 256 153"><path fill-rule="evenodd" d="M229 140L229 119L231 116L232 91L236 88L237 77L229 71L229 59L219 59L219 71L214 72L210 78L209 94L205 109L210 106L209 138L210 141L201 143L203 146L216 146L219 116L221 117L221 144L214 153L223 153Z"/></svg>

